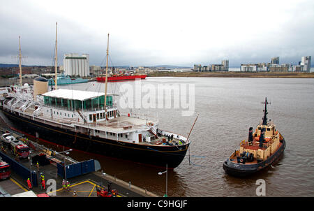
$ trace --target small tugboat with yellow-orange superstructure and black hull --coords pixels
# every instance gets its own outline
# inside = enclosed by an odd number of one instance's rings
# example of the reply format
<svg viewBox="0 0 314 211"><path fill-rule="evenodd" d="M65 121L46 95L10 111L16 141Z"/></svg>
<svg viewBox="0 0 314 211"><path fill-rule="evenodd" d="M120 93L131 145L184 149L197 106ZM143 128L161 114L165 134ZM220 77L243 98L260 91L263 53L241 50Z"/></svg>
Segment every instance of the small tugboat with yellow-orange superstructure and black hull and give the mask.
<svg viewBox="0 0 314 211"><path fill-rule="evenodd" d="M228 175L245 177L276 163L285 150L285 139L275 129L273 122L267 123L267 98L264 101L264 117L262 124L253 127L248 132L248 141L242 141L240 149L236 150L223 163L223 169Z"/></svg>

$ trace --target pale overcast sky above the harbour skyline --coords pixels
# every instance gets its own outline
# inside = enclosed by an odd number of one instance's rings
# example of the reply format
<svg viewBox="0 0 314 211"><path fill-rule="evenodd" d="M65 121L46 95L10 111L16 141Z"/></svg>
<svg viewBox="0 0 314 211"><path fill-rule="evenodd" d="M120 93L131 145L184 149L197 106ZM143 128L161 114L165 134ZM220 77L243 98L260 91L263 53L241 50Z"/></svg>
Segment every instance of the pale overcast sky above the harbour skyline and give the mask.
<svg viewBox="0 0 314 211"><path fill-rule="evenodd" d="M313 0L0 0L0 63L58 64L63 55L89 54L105 66L230 66L270 62L297 64L314 56ZM312 61L312 64L314 62Z"/></svg>

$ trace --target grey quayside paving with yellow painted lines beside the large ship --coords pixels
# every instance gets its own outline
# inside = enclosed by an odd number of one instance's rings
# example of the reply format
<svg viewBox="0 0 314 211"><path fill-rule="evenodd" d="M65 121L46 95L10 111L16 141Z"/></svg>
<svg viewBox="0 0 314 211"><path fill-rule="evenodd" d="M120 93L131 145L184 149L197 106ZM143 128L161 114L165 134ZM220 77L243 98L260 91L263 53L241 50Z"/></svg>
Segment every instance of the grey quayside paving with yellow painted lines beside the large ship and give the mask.
<svg viewBox="0 0 314 211"><path fill-rule="evenodd" d="M16 133L11 132L11 134L21 140L21 137L17 136ZM30 140L29 143L31 143ZM33 143L33 145L35 145L35 143ZM47 153L47 148L37 146L36 150L32 148L31 151L31 157L34 157L38 154ZM29 159L16 159L9 149L1 150L1 153L6 154L10 159L22 164L29 170L36 172L38 187L33 187L31 189L35 194L48 194L51 197L97 197L96 189L98 185L102 184L104 187L107 187L108 182L111 182L111 189L116 189L118 191L118 197L158 197L156 194L153 194L146 189L136 187L133 184L119 180L117 177L112 177L111 175L107 175L100 171L69 178L70 191L64 192L62 188L63 177L60 177L60 175L57 174L57 162L58 160L62 160L66 161L66 163L70 163L74 161L73 159L70 159L69 157L56 158L47 154L46 156L50 159L50 164L39 166L39 169L37 169ZM63 155L59 154L59 156ZM45 176L46 189L42 189L40 186L40 173L43 173ZM29 191L27 180L23 179L21 175L18 175L12 170L9 179L0 181L0 187L11 196L19 194L18 192L23 193Z"/></svg>

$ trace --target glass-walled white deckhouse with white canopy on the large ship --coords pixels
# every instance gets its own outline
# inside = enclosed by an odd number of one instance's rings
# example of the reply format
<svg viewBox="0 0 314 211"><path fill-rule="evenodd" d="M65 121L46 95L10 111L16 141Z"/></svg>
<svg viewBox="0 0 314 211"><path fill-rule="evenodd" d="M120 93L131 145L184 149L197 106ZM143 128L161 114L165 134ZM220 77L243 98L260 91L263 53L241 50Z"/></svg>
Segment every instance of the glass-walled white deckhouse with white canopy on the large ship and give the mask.
<svg viewBox="0 0 314 211"><path fill-rule="evenodd" d="M117 108L113 105L114 96L117 94L107 94L107 119L117 117ZM100 122L106 119L105 94L103 92L56 89L43 94L43 99L45 106L51 108L47 110L46 115L54 118L77 118L76 115L68 113L72 111L77 112L79 118L84 122Z"/></svg>

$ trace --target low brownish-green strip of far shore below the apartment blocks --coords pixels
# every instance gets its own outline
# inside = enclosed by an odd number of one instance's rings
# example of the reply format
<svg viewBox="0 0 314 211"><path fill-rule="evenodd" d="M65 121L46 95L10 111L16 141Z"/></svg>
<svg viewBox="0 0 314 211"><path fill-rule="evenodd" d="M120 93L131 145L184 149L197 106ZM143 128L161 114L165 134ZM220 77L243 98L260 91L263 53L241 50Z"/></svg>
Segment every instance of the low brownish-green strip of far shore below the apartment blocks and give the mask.
<svg viewBox="0 0 314 211"><path fill-rule="evenodd" d="M154 72L147 77L204 77L204 78L314 78L313 73L276 72Z"/></svg>

